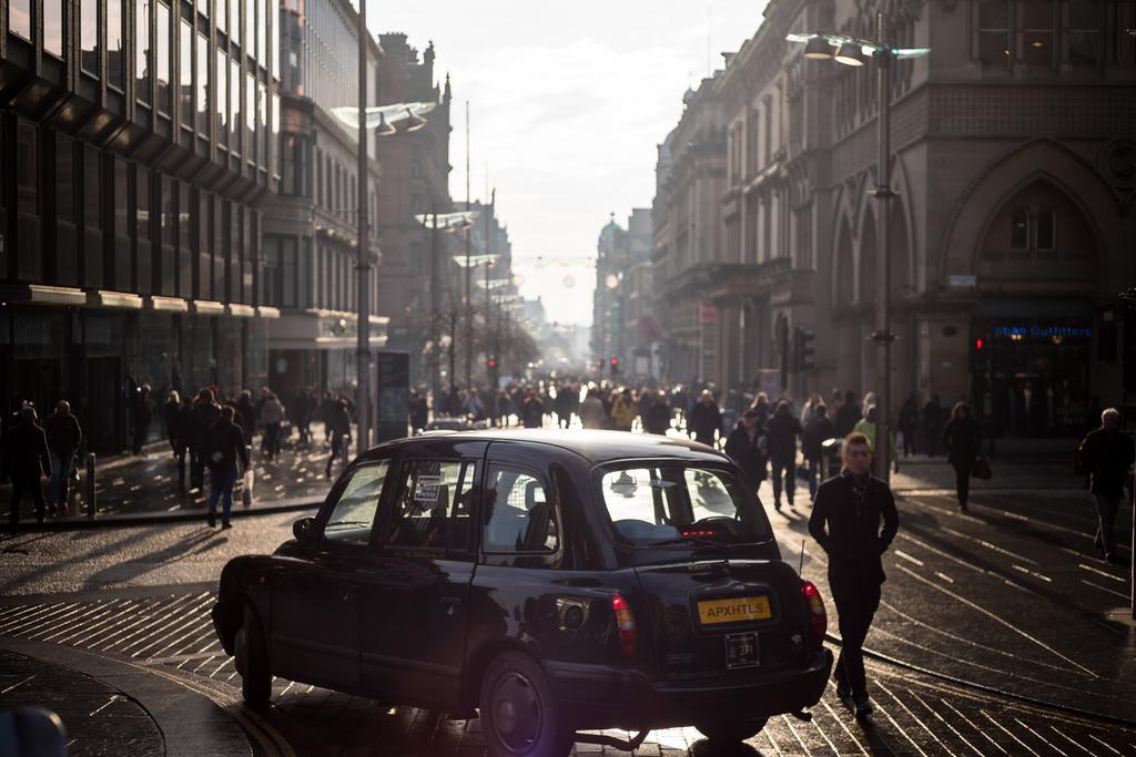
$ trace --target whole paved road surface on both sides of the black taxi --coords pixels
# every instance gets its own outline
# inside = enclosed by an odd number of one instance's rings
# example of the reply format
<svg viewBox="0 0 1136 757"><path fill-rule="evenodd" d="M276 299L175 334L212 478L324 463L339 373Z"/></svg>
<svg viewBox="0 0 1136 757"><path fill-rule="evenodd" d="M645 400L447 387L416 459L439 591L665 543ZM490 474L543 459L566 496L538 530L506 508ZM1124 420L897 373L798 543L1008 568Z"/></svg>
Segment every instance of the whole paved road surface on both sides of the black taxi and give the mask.
<svg viewBox="0 0 1136 757"><path fill-rule="evenodd" d="M916 480L916 496L901 502L901 533L868 639L880 655L926 672L870 664L878 706L871 727L857 724L829 691L813 708L815 722L775 718L747 749L728 754L1136 756L1130 727L1022 699L1136 721L1127 567L1092 556L1084 494L1035 476L1027 493L977 493L967 515L928 479ZM765 489L762 498L769 502ZM799 557L808 513L800 490L795 510L771 513L786 558ZM83 649L160 673L235 718L256 754L482 754L477 721L287 681L276 682L265 718L237 704L239 678L207 617L216 577L232 556L289 538L294 519L243 519L225 532L190 522L0 541L0 648L31 645L48 656ZM1120 527L1130 528L1127 520ZM808 542L804 574L825 587L822 557ZM75 738L73 754L99 751L97 733ZM684 729L652 733L638 754L716 752Z"/></svg>

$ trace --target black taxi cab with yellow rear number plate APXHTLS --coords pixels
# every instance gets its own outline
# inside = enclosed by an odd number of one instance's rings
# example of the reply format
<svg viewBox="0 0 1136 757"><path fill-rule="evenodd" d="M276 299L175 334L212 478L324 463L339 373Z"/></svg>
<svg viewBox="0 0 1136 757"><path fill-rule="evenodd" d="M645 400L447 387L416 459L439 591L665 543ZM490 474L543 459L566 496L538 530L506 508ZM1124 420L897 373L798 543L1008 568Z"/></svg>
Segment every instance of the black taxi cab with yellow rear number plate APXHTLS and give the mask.
<svg viewBox="0 0 1136 757"><path fill-rule="evenodd" d="M492 755L758 733L818 701L817 588L710 447L619 431L435 432L375 447L212 609L245 700L272 676L482 720ZM618 727L636 741L577 733Z"/></svg>

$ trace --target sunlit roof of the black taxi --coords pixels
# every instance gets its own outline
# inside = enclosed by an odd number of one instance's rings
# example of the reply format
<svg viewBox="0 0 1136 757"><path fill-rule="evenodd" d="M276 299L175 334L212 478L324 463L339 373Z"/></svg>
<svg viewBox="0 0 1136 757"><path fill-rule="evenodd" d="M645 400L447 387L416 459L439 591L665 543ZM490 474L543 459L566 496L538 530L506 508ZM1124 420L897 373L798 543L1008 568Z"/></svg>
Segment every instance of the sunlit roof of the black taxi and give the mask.
<svg viewBox="0 0 1136 757"><path fill-rule="evenodd" d="M418 444L446 441L510 441L546 445L573 452L592 463L628 457L678 457L692 461L722 461L726 457L704 444L655 434L629 431L566 430L566 429L478 429L473 431L436 431L425 436L395 439L373 447L369 457L395 448Z"/></svg>

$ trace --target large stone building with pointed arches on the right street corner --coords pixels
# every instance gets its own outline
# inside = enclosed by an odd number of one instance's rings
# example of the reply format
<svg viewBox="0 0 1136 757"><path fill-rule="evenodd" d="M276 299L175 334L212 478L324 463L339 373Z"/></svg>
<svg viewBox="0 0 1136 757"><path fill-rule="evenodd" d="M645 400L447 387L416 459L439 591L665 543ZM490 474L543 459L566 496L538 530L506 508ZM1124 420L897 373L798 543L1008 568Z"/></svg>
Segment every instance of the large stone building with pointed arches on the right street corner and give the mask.
<svg viewBox="0 0 1136 757"><path fill-rule="evenodd" d="M785 34L870 39L880 10L893 45L932 50L897 61L889 92L892 406L969 399L1000 432L1076 434L1121 399L1117 294L1136 283L1130 0L772 0L716 86L718 254L754 276L718 298L737 345L718 378L877 389L875 70L808 60ZM796 327L817 334L812 371L795 370Z"/></svg>

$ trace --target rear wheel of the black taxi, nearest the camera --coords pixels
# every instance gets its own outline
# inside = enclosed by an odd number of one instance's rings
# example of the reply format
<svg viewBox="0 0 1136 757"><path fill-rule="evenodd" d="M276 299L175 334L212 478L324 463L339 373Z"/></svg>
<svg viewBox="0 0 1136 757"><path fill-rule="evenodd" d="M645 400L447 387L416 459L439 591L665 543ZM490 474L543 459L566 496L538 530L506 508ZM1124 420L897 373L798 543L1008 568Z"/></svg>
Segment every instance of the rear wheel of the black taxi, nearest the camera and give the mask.
<svg viewBox="0 0 1136 757"><path fill-rule="evenodd" d="M485 671L478 698L482 733L492 757L562 757L571 750L540 663L507 651Z"/></svg>

